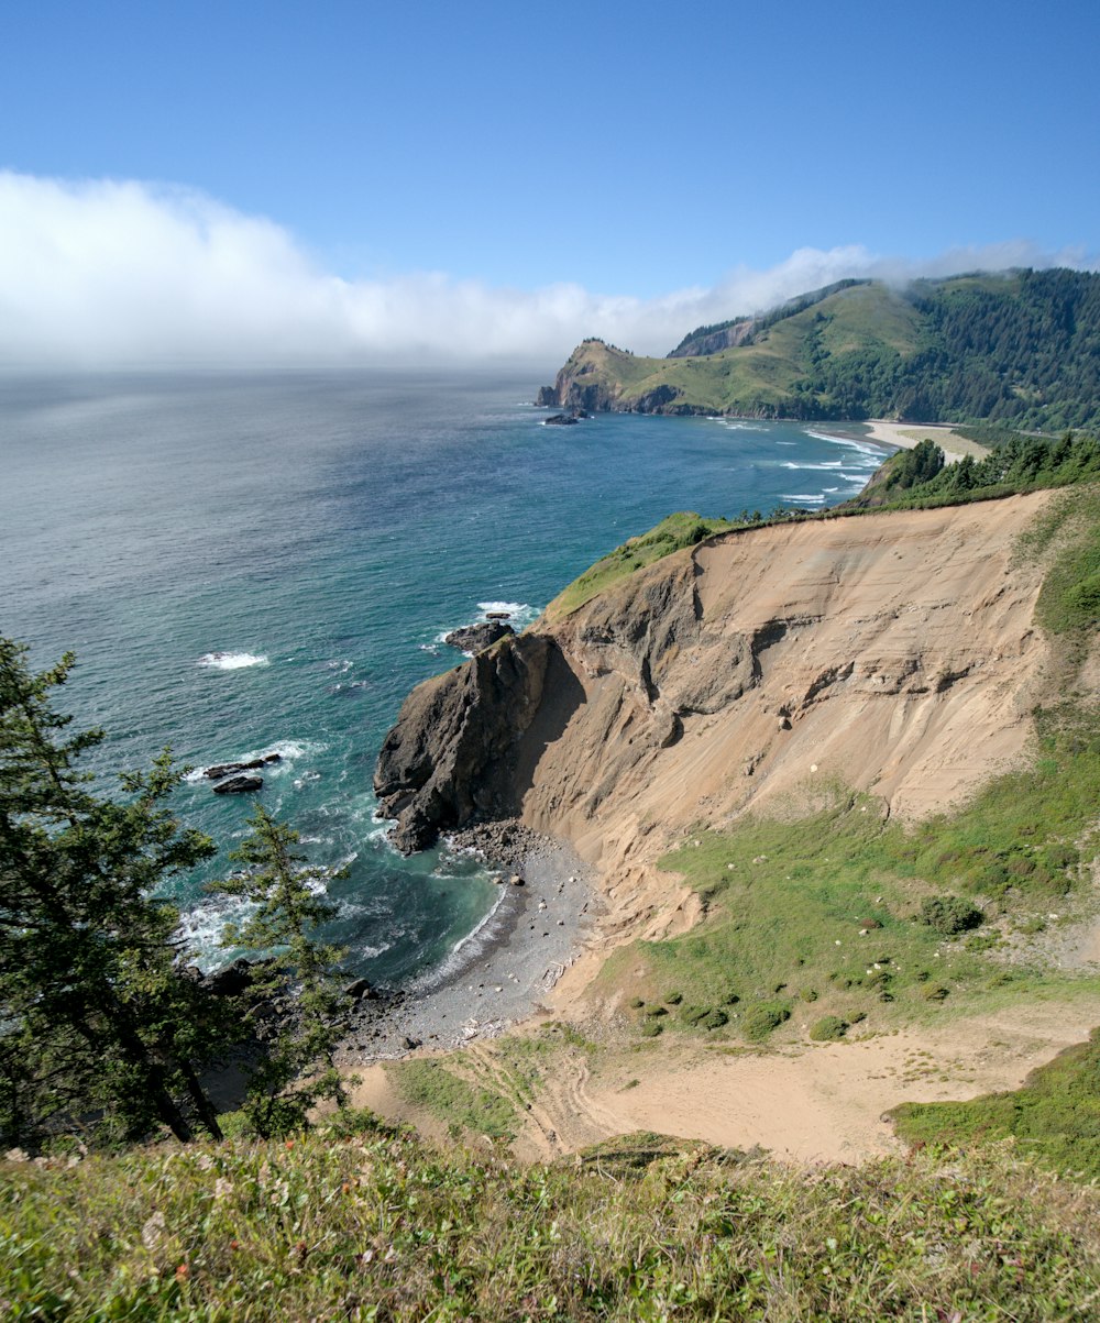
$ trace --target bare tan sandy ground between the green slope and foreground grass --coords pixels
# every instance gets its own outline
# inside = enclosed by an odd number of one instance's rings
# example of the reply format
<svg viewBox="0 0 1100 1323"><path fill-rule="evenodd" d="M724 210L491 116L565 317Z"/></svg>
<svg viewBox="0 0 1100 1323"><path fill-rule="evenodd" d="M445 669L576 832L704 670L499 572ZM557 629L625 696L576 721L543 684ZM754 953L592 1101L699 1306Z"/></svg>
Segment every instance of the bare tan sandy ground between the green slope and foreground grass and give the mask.
<svg viewBox="0 0 1100 1323"><path fill-rule="evenodd" d="M1096 1005L1080 999L766 1053L668 1043L641 1056L612 1050L596 1074L578 1052L556 1064L514 1151L544 1162L614 1135L655 1131L724 1148L758 1146L784 1162L856 1163L901 1148L884 1119L891 1107L1019 1088L1036 1066L1084 1041L1096 1020ZM461 1073L492 1088L492 1049L473 1045ZM356 1105L408 1115L383 1066L360 1074ZM441 1123L416 1119L443 1138Z"/></svg>

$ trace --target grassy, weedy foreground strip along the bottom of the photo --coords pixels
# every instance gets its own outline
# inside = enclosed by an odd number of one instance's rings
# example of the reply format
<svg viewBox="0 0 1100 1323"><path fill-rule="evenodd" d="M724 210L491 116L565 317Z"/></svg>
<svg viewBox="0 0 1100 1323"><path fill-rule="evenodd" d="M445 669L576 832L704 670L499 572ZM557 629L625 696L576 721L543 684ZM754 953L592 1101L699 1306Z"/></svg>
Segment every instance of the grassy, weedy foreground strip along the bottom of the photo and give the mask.
<svg viewBox="0 0 1100 1323"><path fill-rule="evenodd" d="M1003 1154L800 1172L631 1136L441 1155L353 1117L0 1168L5 1319L1095 1318L1100 1196Z"/></svg>

